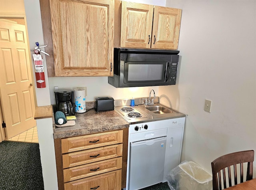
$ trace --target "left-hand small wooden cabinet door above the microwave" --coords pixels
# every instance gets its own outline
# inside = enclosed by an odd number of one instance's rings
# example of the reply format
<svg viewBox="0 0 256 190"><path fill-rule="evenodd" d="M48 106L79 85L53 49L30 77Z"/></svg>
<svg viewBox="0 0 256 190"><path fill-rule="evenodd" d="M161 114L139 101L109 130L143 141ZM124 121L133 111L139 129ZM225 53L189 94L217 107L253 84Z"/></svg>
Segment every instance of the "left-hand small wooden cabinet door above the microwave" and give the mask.
<svg viewBox="0 0 256 190"><path fill-rule="evenodd" d="M121 47L150 48L153 5L122 1Z"/></svg>

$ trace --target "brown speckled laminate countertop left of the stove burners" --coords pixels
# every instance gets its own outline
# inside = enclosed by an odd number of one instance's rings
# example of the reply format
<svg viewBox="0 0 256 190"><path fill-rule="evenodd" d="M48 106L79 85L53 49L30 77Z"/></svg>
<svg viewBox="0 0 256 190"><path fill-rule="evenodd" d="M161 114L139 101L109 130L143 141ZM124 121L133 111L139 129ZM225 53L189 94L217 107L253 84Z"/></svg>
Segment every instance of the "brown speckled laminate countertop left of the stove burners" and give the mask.
<svg viewBox="0 0 256 190"><path fill-rule="evenodd" d="M87 102L86 109L90 110L86 111L85 113L75 113L76 125L74 126L57 128L55 127L53 118L54 139L87 135L91 133L112 131L129 127L129 123L125 121L116 111L96 112L94 110L94 103L93 105L87 105Z"/></svg>

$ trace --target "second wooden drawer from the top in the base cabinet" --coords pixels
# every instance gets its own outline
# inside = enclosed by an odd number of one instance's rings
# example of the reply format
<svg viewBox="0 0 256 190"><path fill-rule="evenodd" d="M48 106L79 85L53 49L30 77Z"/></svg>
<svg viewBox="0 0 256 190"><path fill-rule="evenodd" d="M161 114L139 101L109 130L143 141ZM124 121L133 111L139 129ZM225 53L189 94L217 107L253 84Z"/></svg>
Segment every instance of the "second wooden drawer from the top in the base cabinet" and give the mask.
<svg viewBox="0 0 256 190"><path fill-rule="evenodd" d="M110 158L122 156L123 144L115 144L90 150L82 150L62 155L63 168L70 168Z"/></svg>

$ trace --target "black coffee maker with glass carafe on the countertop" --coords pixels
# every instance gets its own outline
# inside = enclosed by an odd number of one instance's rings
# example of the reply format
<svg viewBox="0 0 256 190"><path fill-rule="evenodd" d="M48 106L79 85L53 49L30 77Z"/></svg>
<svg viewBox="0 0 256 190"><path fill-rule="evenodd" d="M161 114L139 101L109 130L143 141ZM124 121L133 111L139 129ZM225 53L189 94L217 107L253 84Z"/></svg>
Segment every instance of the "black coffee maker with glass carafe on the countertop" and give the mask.
<svg viewBox="0 0 256 190"><path fill-rule="evenodd" d="M58 89L54 93L57 111L62 111L65 116L74 115L74 91L71 89Z"/></svg>

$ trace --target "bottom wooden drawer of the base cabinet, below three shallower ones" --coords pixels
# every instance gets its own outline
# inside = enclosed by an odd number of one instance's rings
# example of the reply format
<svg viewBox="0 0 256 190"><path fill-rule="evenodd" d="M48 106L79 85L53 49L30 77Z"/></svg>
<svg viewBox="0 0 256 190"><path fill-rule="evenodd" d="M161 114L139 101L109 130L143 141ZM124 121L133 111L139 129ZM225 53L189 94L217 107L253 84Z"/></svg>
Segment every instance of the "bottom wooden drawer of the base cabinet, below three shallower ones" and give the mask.
<svg viewBox="0 0 256 190"><path fill-rule="evenodd" d="M99 174L64 184L65 190L120 190L121 170Z"/></svg>

